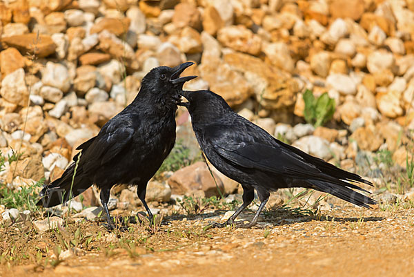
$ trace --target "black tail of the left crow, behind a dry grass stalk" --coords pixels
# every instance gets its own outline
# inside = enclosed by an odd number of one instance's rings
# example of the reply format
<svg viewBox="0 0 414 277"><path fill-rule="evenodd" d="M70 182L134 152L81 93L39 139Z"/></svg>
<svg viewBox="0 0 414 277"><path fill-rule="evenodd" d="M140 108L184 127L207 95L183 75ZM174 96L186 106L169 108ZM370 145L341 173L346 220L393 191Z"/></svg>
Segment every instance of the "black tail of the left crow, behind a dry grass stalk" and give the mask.
<svg viewBox="0 0 414 277"><path fill-rule="evenodd" d="M77 169L75 179L73 178L75 164L75 162L70 164L68 169L63 172L61 178L46 185L46 187L41 190L39 193L41 198L37 202L38 206L53 207L63 204L70 198L81 194L92 185L92 182L90 182L88 178L85 178L81 169Z"/></svg>

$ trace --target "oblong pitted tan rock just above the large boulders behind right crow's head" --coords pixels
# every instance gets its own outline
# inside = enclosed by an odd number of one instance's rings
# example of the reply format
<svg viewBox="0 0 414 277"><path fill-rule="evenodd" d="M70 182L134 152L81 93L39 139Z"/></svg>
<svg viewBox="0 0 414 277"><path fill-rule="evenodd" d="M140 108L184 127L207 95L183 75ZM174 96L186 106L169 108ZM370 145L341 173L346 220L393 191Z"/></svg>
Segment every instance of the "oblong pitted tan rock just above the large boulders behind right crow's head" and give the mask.
<svg viewBox="0 0 414 277"><path fill-rule="evenodd" d="M259 55L262 39L244 26L227 26L217 33L217 39L224 46L250 55Z"/></svg>

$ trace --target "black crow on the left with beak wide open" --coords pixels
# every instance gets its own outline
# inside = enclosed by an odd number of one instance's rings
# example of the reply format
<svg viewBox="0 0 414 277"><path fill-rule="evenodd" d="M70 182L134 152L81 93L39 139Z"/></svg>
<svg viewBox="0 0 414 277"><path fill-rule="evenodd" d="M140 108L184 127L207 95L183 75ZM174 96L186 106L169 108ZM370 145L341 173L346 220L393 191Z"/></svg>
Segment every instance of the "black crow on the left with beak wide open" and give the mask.
<svg viewBox="0 0 414 277"><path fill-rule="evenodd" d="M96 137L81 144L61 178L48 184L37 204L53 207L79 195L92 184L101 189L100 198L108 228L113 229L108 200L116 184L137 187L137 195L148 216L145 202L147 182L175 144L175 112L184 82L196 76L179 77L192 62L175 68L160 66L142 79L134 101L106 122Z"/></svg>

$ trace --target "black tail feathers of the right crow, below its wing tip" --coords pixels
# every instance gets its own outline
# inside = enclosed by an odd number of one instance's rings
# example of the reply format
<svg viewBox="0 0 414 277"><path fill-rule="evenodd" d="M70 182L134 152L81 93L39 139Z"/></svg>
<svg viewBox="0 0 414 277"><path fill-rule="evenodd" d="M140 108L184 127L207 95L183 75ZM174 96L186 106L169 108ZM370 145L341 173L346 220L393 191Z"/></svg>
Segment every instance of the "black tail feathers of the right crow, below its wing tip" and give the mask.
<svg viewBox="0 0 414 277"><path fill-rule="evenodd" d="M342 187L328 182L317 181L317 180L308 180L308 183L311 184L311 189L316 189L317 191L322 191L335 195L337 198L341 198L347 202L355 204L359 207L365 207L371 209L368 205L377 204L375 200L369 198L366 195L353 191L348 187Z"/></svg>

